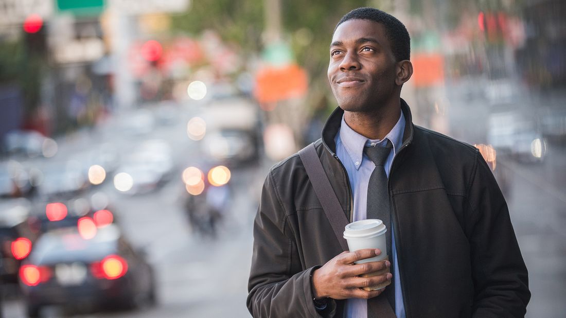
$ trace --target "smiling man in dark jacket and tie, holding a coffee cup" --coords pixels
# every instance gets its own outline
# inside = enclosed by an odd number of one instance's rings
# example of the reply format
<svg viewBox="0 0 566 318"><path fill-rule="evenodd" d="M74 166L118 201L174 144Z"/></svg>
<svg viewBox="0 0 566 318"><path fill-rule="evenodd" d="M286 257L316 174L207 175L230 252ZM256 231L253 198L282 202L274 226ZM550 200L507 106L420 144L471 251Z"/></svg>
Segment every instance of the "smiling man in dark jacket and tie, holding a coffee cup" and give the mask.
<svg viewBox="0 0 566 318"><path fill-rule="evenodd" d="M400 98L413 73L409 42L383 11L358 8L340 20L328 67L339 108L315 143L350 222L366 218L372 170L385 170L391 263L357 265L382 251L341 250L295 154L264 183L248 285L253 316L371 317L380 297L398 317L525 315L527 270L491 170L478 149L413 125ZM376 167L366 147L385 147L384 164ZM359 277L384 267L391 273ZM384 291L361 289L387 280Z"/></svg>

